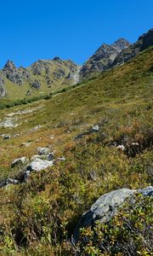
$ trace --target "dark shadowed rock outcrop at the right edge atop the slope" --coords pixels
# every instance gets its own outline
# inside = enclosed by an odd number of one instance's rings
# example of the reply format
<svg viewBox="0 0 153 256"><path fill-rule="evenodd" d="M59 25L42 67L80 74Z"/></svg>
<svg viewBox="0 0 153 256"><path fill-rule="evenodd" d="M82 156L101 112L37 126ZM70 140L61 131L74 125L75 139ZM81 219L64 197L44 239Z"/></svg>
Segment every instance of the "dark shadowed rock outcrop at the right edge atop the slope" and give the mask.
<svg viewBox="0 0 153 256"><path fill-rule="evenodd" d="M113 61L111 67L120 66L123 63L129 61L134 56L138 55L144 49L153 45L153 29L150 29L148 32L144 33L139 37L138 41L134 44L129 45L126 49L123 49L120 52L116 59Z"/></svg>

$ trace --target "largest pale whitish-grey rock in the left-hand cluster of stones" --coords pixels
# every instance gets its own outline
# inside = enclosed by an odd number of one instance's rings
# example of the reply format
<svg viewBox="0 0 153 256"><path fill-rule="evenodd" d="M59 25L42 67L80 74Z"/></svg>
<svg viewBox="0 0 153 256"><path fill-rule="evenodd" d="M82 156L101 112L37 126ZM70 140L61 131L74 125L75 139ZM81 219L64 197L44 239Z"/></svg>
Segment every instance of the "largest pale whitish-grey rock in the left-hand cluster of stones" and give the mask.
<svg viewBox="0 0 153 256"><path fill-rule="evenodd" d="M54 161L41 160L39 158L33 160L29 166L26 167L26 171L40 172L48 167L54 166Z"/></svg>

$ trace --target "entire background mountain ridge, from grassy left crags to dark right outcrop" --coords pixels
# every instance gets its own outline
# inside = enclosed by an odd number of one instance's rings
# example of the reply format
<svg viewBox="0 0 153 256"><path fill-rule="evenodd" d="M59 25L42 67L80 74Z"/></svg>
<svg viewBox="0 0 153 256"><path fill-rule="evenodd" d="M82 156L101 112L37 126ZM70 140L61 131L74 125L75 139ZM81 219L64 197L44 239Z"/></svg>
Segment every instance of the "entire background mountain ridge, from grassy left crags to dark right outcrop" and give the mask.
<svg viewBox="0 0 153 256"><path fill-rule="evenodd" d="M0 70L0 98L48 95L120 66L151 45L153 29L134 44L124 38L118 38L113 44L102 44L82 66L58 56L35 61L29 67L15 67L14 62L8 60Z"/></svg>

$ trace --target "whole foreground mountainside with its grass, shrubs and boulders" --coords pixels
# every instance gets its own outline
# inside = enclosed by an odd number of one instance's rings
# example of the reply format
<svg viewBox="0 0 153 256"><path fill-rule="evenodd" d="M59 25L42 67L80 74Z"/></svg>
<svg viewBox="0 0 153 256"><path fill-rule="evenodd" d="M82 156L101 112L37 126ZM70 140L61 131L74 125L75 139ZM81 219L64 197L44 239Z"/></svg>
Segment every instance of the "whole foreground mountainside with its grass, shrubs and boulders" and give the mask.
<svg viewBox="0 0 153 256"><path fill-rule="evenodd" d="M151 255L152 60L0 109L0 255Z"/></svg>

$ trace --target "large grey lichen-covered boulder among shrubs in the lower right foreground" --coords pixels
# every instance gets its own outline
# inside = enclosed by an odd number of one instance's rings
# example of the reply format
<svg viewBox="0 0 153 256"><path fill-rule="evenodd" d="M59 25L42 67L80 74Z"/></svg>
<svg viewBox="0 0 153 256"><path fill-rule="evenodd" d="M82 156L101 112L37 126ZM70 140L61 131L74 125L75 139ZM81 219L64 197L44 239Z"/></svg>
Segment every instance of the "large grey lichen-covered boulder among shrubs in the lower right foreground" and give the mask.
<svg viewBox="0 0 153 256"><path fill-rule="evenodd" d="M142 195L153 195L153 187L145 189L117 189L102 195L94 203L94 205L82 215L77 228L74 230L74 241L79 238L79 230L83 227L94 226L99 220L101 223L107 223L116 214L118 209L122 207L123 202L133 196L135 193Z"/></svg>

